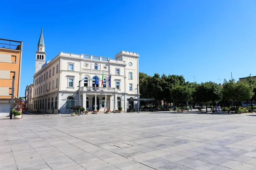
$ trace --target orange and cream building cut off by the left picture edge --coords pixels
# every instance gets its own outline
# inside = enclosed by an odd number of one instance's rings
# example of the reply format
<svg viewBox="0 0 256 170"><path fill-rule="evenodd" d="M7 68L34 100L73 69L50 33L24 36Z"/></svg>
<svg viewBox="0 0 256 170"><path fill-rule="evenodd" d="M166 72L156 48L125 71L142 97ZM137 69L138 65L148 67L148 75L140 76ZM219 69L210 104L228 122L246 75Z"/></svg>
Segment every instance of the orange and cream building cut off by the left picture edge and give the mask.
<svg viewBox="0 0 256 170"><path fill-rule="evenodd" d="M9 116L14 75L14 99L19 98L22 47L22 41L0 39L0 116Z"/></svg>

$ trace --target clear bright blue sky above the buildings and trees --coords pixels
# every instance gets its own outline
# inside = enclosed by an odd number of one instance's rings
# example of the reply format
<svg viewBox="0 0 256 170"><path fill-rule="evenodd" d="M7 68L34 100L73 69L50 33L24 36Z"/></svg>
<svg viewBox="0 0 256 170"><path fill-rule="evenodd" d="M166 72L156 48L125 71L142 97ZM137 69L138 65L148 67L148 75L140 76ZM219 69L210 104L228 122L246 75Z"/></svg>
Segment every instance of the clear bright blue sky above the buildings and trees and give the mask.
<svg viewBox="0 0 256 170"><path fill-rule="evenodd" d="M113 58L140 55L148 75L223 82L256 76L256 1L81 0L3 1L0 38L23 41L20 96L33 82L44 28L47 60L59 52Z"/></svg>

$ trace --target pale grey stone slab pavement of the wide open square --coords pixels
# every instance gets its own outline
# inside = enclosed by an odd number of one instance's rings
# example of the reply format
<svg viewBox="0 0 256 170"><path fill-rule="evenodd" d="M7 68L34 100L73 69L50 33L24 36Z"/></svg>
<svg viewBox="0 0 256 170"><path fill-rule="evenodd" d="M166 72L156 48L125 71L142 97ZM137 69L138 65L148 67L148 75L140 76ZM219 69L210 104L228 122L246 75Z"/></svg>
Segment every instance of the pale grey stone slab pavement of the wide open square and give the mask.
<svg viewBox="0 0 256 170"><path fill-rule="evenodd" d="M0 127L0 170L256 170L256 115L25 115Z"/></svg>

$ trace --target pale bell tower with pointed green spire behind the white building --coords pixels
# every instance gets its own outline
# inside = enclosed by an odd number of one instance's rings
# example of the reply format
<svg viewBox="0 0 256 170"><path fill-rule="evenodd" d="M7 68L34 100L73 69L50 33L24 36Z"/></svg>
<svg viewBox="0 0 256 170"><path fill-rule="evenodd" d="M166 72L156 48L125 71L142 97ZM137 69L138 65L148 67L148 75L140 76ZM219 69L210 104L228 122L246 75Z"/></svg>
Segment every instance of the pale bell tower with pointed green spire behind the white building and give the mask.
<svg viewBox="0 0 256 170"><path fill-rule="evenodd" d="M41 70L42 65L45 63L45 45L44 45L44 34L43 28L41 29L41 35L38 41L38 51L35 52L35 73Z"/></svg>

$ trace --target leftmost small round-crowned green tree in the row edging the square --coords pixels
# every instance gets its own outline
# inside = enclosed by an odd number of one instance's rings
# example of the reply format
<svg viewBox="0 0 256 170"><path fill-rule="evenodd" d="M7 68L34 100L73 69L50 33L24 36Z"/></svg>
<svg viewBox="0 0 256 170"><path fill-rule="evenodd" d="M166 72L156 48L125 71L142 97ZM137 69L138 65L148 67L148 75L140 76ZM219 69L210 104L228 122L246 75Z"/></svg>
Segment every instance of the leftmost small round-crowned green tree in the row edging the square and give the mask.
<svg viewBox="0 0 256 170"><path fill-rule="evenodd" d="M175 102L181 102L181 111L183 111L183 102L192 100L192 89L186 85L177 85L172 88L171 95Z"/></svg>

